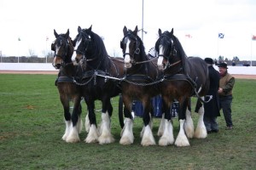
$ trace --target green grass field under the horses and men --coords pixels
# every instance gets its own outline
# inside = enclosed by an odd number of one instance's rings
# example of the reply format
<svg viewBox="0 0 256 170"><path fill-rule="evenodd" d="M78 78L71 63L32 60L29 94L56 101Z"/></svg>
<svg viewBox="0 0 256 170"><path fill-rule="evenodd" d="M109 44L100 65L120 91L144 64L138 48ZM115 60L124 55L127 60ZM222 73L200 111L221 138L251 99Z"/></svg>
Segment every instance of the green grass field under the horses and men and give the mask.
<svg viewBox="0 0 256 170"><path fill-rule="evenodd" d="M79 143L67 144L61 140L65 123L55 76L0 74L0 168L255 169L255 88L255 80L237 79L232 105L235 128L225 129L222 114L218 117L219 133L211 133L207 139L190 139L189 147L141 146L142 118L135 119L134 144L120 145L118 97L112 100L113 144L84 143L84 129ZM96 108L100 106L96 102ZM83 121L85 111L83 104ZM100 122L100 113L96 115ZM195 126L197 118L193 114ZM159 122L154 119L156 141ZM173 122L176 138L177 119Z"/></svg>

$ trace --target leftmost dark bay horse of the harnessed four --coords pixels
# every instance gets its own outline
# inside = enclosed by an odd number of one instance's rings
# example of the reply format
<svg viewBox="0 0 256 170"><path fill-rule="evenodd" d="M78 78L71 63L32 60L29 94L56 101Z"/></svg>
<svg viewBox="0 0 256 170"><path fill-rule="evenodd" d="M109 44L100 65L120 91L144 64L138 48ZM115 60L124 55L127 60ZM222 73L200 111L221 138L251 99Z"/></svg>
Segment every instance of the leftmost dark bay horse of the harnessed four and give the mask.
<svg viewBox="0 0 256 170"><path fill-rule="evenodd" d="M69 37L69 30L66 34L58 34L54 30L55 41L51 44L51 50L55 52L52 65L55 69L60 69L55 85L58 88L61 104L64 109L66 130L62 137L66 142L78 142L79 132L82 129L81 105L79 86L73 81L79 76L78 66L73 65L71 60L73 55L73 41ZM73 113L70 113L70 101L73 101Z"/></svg>

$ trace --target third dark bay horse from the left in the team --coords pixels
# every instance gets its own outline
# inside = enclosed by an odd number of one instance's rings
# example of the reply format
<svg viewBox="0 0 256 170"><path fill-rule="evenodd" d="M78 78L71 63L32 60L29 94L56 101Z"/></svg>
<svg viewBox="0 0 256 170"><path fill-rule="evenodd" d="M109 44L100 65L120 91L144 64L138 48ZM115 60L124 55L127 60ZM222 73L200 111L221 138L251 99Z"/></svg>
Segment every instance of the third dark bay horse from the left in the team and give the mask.
<svg viewBox="0 0 256 170"><path fill-rule="evenodd" d="M152 105L150 99L159 94L156 80L159 71L156 60L150 60L140 37L137 36L137 26L134 31L123 29L124 37L120 42L125 59L125 79L121 81L122 97L125 105L125 127L121 133L120 144L132 144L133 116L131 107L133 100L140 100L143 104L144 127L141 133L143 146L154 145L154 136L151 130Z"/></svg>

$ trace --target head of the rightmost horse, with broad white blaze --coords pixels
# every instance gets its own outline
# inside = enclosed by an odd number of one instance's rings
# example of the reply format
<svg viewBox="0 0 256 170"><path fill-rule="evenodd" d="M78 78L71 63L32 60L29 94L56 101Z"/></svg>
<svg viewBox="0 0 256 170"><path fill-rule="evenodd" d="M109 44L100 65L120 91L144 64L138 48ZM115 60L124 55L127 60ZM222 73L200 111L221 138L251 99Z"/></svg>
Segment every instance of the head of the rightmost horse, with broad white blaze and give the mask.
<svg viewBox="0 0 256 170"><path fill-rule="evenodd" d="M160 70L166 70L172 66L177 59L177 49L175 46L175 37L172 31L162 31L159 29L159 39L155 42L155 50L158 54L157 65Z"/></svg>

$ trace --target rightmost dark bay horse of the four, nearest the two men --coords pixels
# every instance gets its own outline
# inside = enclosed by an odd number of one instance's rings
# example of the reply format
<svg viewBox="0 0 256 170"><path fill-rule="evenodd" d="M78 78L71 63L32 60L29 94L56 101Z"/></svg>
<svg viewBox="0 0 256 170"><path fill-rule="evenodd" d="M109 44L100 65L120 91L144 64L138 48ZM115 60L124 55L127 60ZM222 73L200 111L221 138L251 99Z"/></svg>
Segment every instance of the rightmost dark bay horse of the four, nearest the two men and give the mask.
<svg viewBox="0 0 256 170"><path fill-rule="evenodd" d="M158 67L164 71L164 81L160 82L160 93L166 105L165 112L170 111L172 101L177 99L180 111L178 120L180 130L175 144L188 146L189 138L204 139L207 137L207 129L203 122L203 99L209 88L208 68L206 62L198 57L188 58L183 51L181 43L171 32L159 29L159 39L155 42L158 53ZM191 118L190 97L196 96L196 112L199 120L194 133L194 125ZM168 122L162 129L161 145L173 144L172 122ZM187 136L186 136L187 135Z"/></svg>

